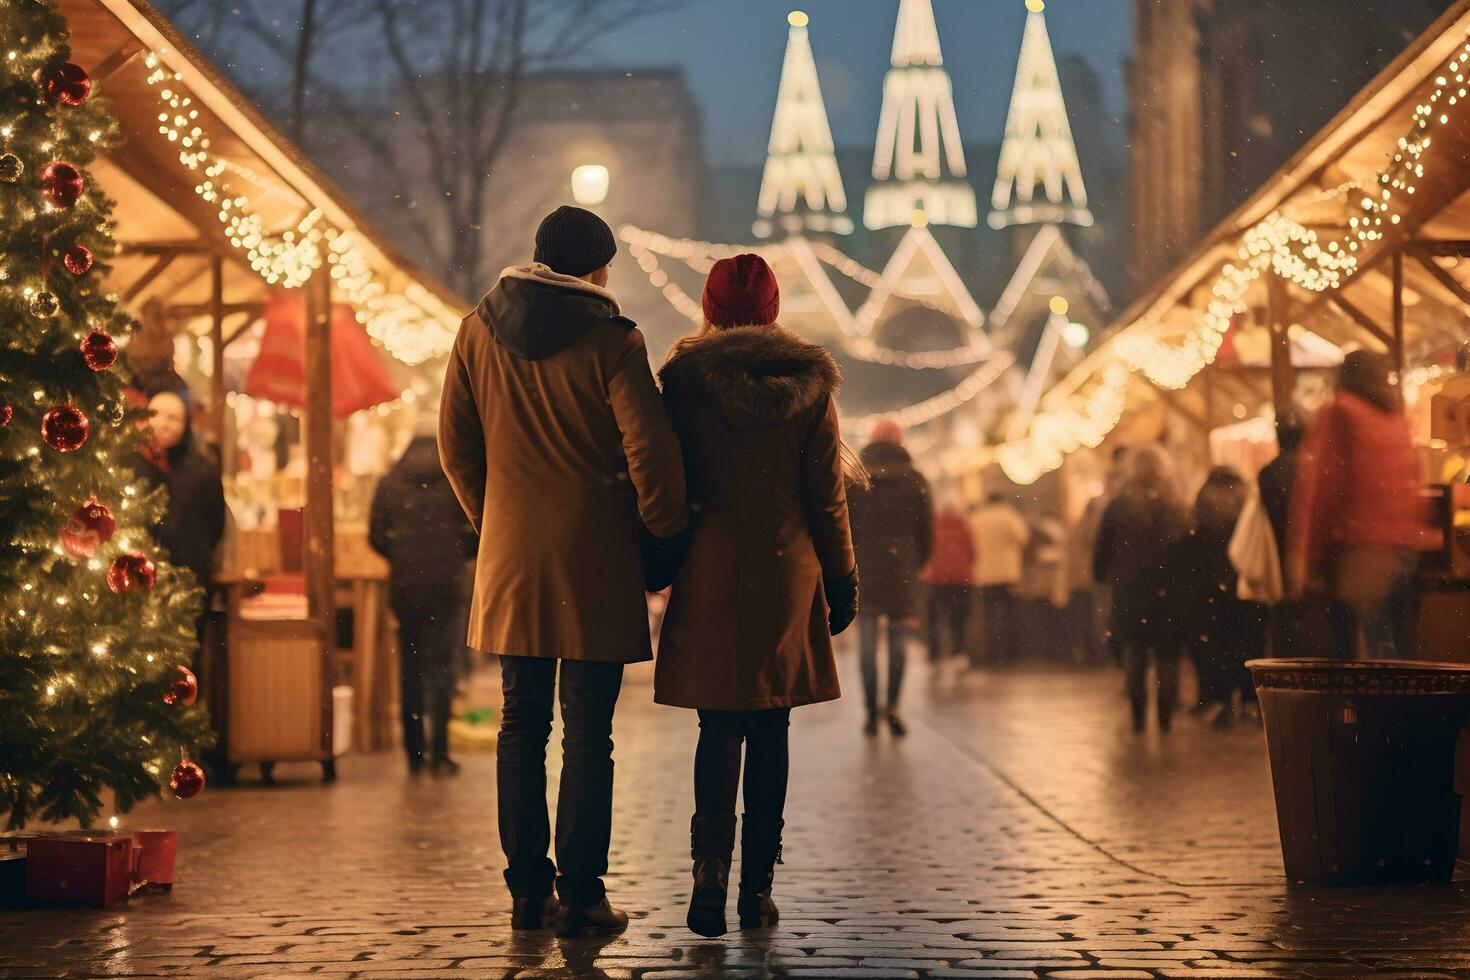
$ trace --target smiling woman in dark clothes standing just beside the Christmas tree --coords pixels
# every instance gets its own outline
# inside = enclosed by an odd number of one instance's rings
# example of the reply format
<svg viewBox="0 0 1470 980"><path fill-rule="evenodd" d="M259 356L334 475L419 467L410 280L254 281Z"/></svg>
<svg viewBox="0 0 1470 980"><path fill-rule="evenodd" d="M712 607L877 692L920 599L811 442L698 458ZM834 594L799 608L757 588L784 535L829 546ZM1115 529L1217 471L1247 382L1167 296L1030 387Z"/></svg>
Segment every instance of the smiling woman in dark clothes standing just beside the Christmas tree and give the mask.
<svg viewBox="0 0 1470 980"><path fill-rule="evenodd" d="M215 548L225 535L225 488L219 470L194 448L188 406L179 392L160 391L148 400L148 433L132 469L148 486L166 486L169 492L168 510L154 527L154 538L169 561L193 572L207 589L215 572Z"/></svg>

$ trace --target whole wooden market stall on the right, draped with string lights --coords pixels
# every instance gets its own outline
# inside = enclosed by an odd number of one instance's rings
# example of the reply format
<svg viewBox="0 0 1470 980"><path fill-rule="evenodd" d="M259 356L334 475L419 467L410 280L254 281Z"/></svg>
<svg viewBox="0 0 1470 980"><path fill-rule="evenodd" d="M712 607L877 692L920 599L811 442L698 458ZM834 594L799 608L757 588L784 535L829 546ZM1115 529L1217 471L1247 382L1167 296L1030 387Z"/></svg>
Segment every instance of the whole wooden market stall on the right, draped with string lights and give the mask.
<svg viewBox="0 0 1470 980"><path fill-rule="evenodd" d="M1066 475L1091 450L1164 439L1195 480L1216 461L1252 472L1274 451L1276 408L1322 404L1345 351L1386 351L1426 483L1441 485L1426 491L1445 532L1423 580L1426 655L1466 660L1470 438L1454 426L1470 406L1441 392L1466 383L1467 317L1470 0L1460 0L1135 303L1023 433L954 450L944 466L972 482L1000 466L1025 485Z"/></svg>

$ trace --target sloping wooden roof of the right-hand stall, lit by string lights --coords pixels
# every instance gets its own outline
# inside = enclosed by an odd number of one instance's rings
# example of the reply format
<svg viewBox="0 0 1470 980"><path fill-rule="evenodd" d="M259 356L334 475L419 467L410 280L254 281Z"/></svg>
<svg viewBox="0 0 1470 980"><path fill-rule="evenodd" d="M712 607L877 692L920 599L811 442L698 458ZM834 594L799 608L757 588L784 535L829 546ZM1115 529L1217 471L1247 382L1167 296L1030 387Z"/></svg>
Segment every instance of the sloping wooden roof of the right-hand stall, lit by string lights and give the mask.
<svg viewBox="0 0 1470 980"><path fill-rule="evenodd" d="M1470 0L1458 0L1255 194L1214 228L1176 269L1133 303L1105 332L1105 339L1042 400L1042 411L1023 435L982 450L953 451L945 470L958 475L1000 463L1016 482L1029 483L1060 466L1073 450L1097 445L1123 416L1167 398L1197 417L1205 395L1201 364L1188 345L1217 300L1217 287L1248 263L1250 244L1266 228L1317 235L1326 251L1339 242L1355 269L1326 288L1276 275L1270 267L1242 287L1236 316L1223 341L1208 345L1204 364L1211 378L1227 376L1239 391L1270 391L1266 367L1267 323L1289 326L1292 360L1299 366L1330 363L1355 347L1391 348L1394 334L1394 269L1402 275L1402 354L1405 367L1444 361L1470 339ZM1454 66L1454 71L1451 71ZM1446 75L1448 72L1448 75ZM1413 191L1389 184L1383 173L1413 140L1435 91L1429 113L1432 143L1419 157L1423 173L1410 172ZM1417 113L1417 115L1416 115ZM1392 190L1392 215L1355 238L1366 220L1364 198L1377 203ZM1367 225L1364 225L1366 228ZM1297 241L1289 253L1299 256ZM1266 263L1270 264L1269 262ZM1320 282L1317 285L1322 285ZM1210 336L1208 334L1205 334ZM1216 350L1219 347L1219 350ZM1141 353L1147 351L1147 353ZM1229 363L1227 363L1229 361ZM1233 398L1232 398L1233 401Z"/></svg>

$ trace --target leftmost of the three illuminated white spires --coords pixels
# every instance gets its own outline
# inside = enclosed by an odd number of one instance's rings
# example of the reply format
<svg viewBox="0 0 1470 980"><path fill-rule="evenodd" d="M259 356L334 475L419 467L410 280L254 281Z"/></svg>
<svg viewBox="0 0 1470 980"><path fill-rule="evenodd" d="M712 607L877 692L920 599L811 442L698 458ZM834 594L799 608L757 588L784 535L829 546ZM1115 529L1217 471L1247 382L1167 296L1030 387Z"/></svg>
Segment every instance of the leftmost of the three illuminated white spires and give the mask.
<svg viewBox="0 0 1470 980"><path fill-rule="evenodd" d="M757 238L770 238L778 231L847 235L853 219L845 213L847 194L807 38L807 15L792 10L786 24L791 25L786 60L781 68L754 232Z"/></svg>

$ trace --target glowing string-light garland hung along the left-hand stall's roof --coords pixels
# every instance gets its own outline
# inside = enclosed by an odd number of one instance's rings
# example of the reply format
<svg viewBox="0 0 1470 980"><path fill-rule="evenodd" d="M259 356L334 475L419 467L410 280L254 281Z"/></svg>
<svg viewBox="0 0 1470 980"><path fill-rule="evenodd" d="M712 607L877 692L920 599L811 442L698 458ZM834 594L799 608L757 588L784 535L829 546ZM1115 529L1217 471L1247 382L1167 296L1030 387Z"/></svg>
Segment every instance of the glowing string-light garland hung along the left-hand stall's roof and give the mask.
<svg viewBox="0 0 1470 980"><path fill-rule="evenodd" d="M198 173L194 185L198 197L219 209L229 244L245 254L250 267L268 284L294 289L312 275L329 266L332 281L353 306L357 320L368 335L404 364L422 364L440 357L454 345L457 317L442 307L432 292L410 284L404 292L390 292L373 273L360 237L353 231L338 231L325 220L322 210L306 215L279 235L269 235L250 198L229 187L228 173L259 182L247 167L210 153L209 134L198 123L194 100L181 90L182 73L169 71L162 59L148 51L144 56L147 82L157 88L160 101L159 134L178 145L178 159L185 169Z"/></svg>

